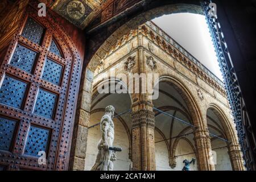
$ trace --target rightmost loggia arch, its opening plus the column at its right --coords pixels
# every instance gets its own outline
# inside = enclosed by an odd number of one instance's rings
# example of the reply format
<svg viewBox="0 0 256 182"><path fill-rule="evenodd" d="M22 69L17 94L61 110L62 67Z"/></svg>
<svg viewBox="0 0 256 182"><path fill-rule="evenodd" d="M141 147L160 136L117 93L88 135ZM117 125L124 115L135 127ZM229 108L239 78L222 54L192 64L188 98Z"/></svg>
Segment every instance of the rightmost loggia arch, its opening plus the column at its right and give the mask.
<svg viewBox="0 0 256 182"><path fill-rule="evenodd" d="M207 109L207 126L209 132L216 135L211 138L216 170L243 169L240 146L233 121L225 116L220 107L211 104Z"/></svg>

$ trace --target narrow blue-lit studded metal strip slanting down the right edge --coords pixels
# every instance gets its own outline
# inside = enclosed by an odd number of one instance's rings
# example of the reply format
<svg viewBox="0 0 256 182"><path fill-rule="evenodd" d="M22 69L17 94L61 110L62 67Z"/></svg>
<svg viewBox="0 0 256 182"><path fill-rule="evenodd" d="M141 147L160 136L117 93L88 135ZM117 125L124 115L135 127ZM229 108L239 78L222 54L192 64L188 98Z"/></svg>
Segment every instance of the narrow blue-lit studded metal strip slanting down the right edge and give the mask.
<svg viewBox="0 0 256 182"><path fill-rule="evenodd" d="M212 1L201 1L201 7L204 11L205 18L207 20L210 34L212 35L214 47L217 52L218 63L221 68L222 75L224 77L225 88L228 93L229 104L233 111L234 122L236 123L236 130L238 133L238 139L241 144L243 158L246 160L246 168L253 169L254 162L252 154L250 154L249 145L246 142L248 139L245 135L245 129L242 124L242 97L241 89L238 85L236 73L234 73L234 68L232 66L232 60L229 55L228 47L226 46L224 35L221 31L220 23L216 17L210 17L210 3Z"/></svg>

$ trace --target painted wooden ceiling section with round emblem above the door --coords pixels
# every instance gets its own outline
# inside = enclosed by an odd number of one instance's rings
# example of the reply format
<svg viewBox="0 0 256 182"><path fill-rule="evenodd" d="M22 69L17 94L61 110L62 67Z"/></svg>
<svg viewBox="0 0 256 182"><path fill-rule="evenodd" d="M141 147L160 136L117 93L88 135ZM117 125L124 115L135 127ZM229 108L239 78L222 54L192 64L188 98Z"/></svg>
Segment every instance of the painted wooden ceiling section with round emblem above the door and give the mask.
<svg viewBox="0 0 256 182"><path fill-rule="evenodd" d="M84 29L100 24L142 0L40 0L75 26Z"/></svg>

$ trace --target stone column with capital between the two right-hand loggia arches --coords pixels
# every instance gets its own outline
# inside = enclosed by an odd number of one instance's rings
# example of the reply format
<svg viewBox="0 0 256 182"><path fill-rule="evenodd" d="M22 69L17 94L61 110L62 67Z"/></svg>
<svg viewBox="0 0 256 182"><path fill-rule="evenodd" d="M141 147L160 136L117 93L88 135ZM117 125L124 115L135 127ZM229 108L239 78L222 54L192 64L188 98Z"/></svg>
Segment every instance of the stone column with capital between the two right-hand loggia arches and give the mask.
<svg viewBox="0 0 256 182"><path fill-rule="evenodd" d="M200 171L214 171L214 163L210 161L212 147L210 145L210 136L207 130L196 129L194 140L198 152L199 162L197 163Z"/></svg>

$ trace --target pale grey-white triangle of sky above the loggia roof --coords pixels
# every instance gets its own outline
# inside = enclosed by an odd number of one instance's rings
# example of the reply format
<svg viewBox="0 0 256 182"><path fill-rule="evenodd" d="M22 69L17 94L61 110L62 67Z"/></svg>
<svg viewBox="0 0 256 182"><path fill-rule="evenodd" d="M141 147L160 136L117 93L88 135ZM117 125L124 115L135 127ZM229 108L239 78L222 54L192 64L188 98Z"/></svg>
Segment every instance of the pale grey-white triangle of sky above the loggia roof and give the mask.
<svg viewBox="0 0 256 182"><path fill-rule="evenodd" d="M152 21L222 80L205 16L178 13L163 15Z"/></svg>

